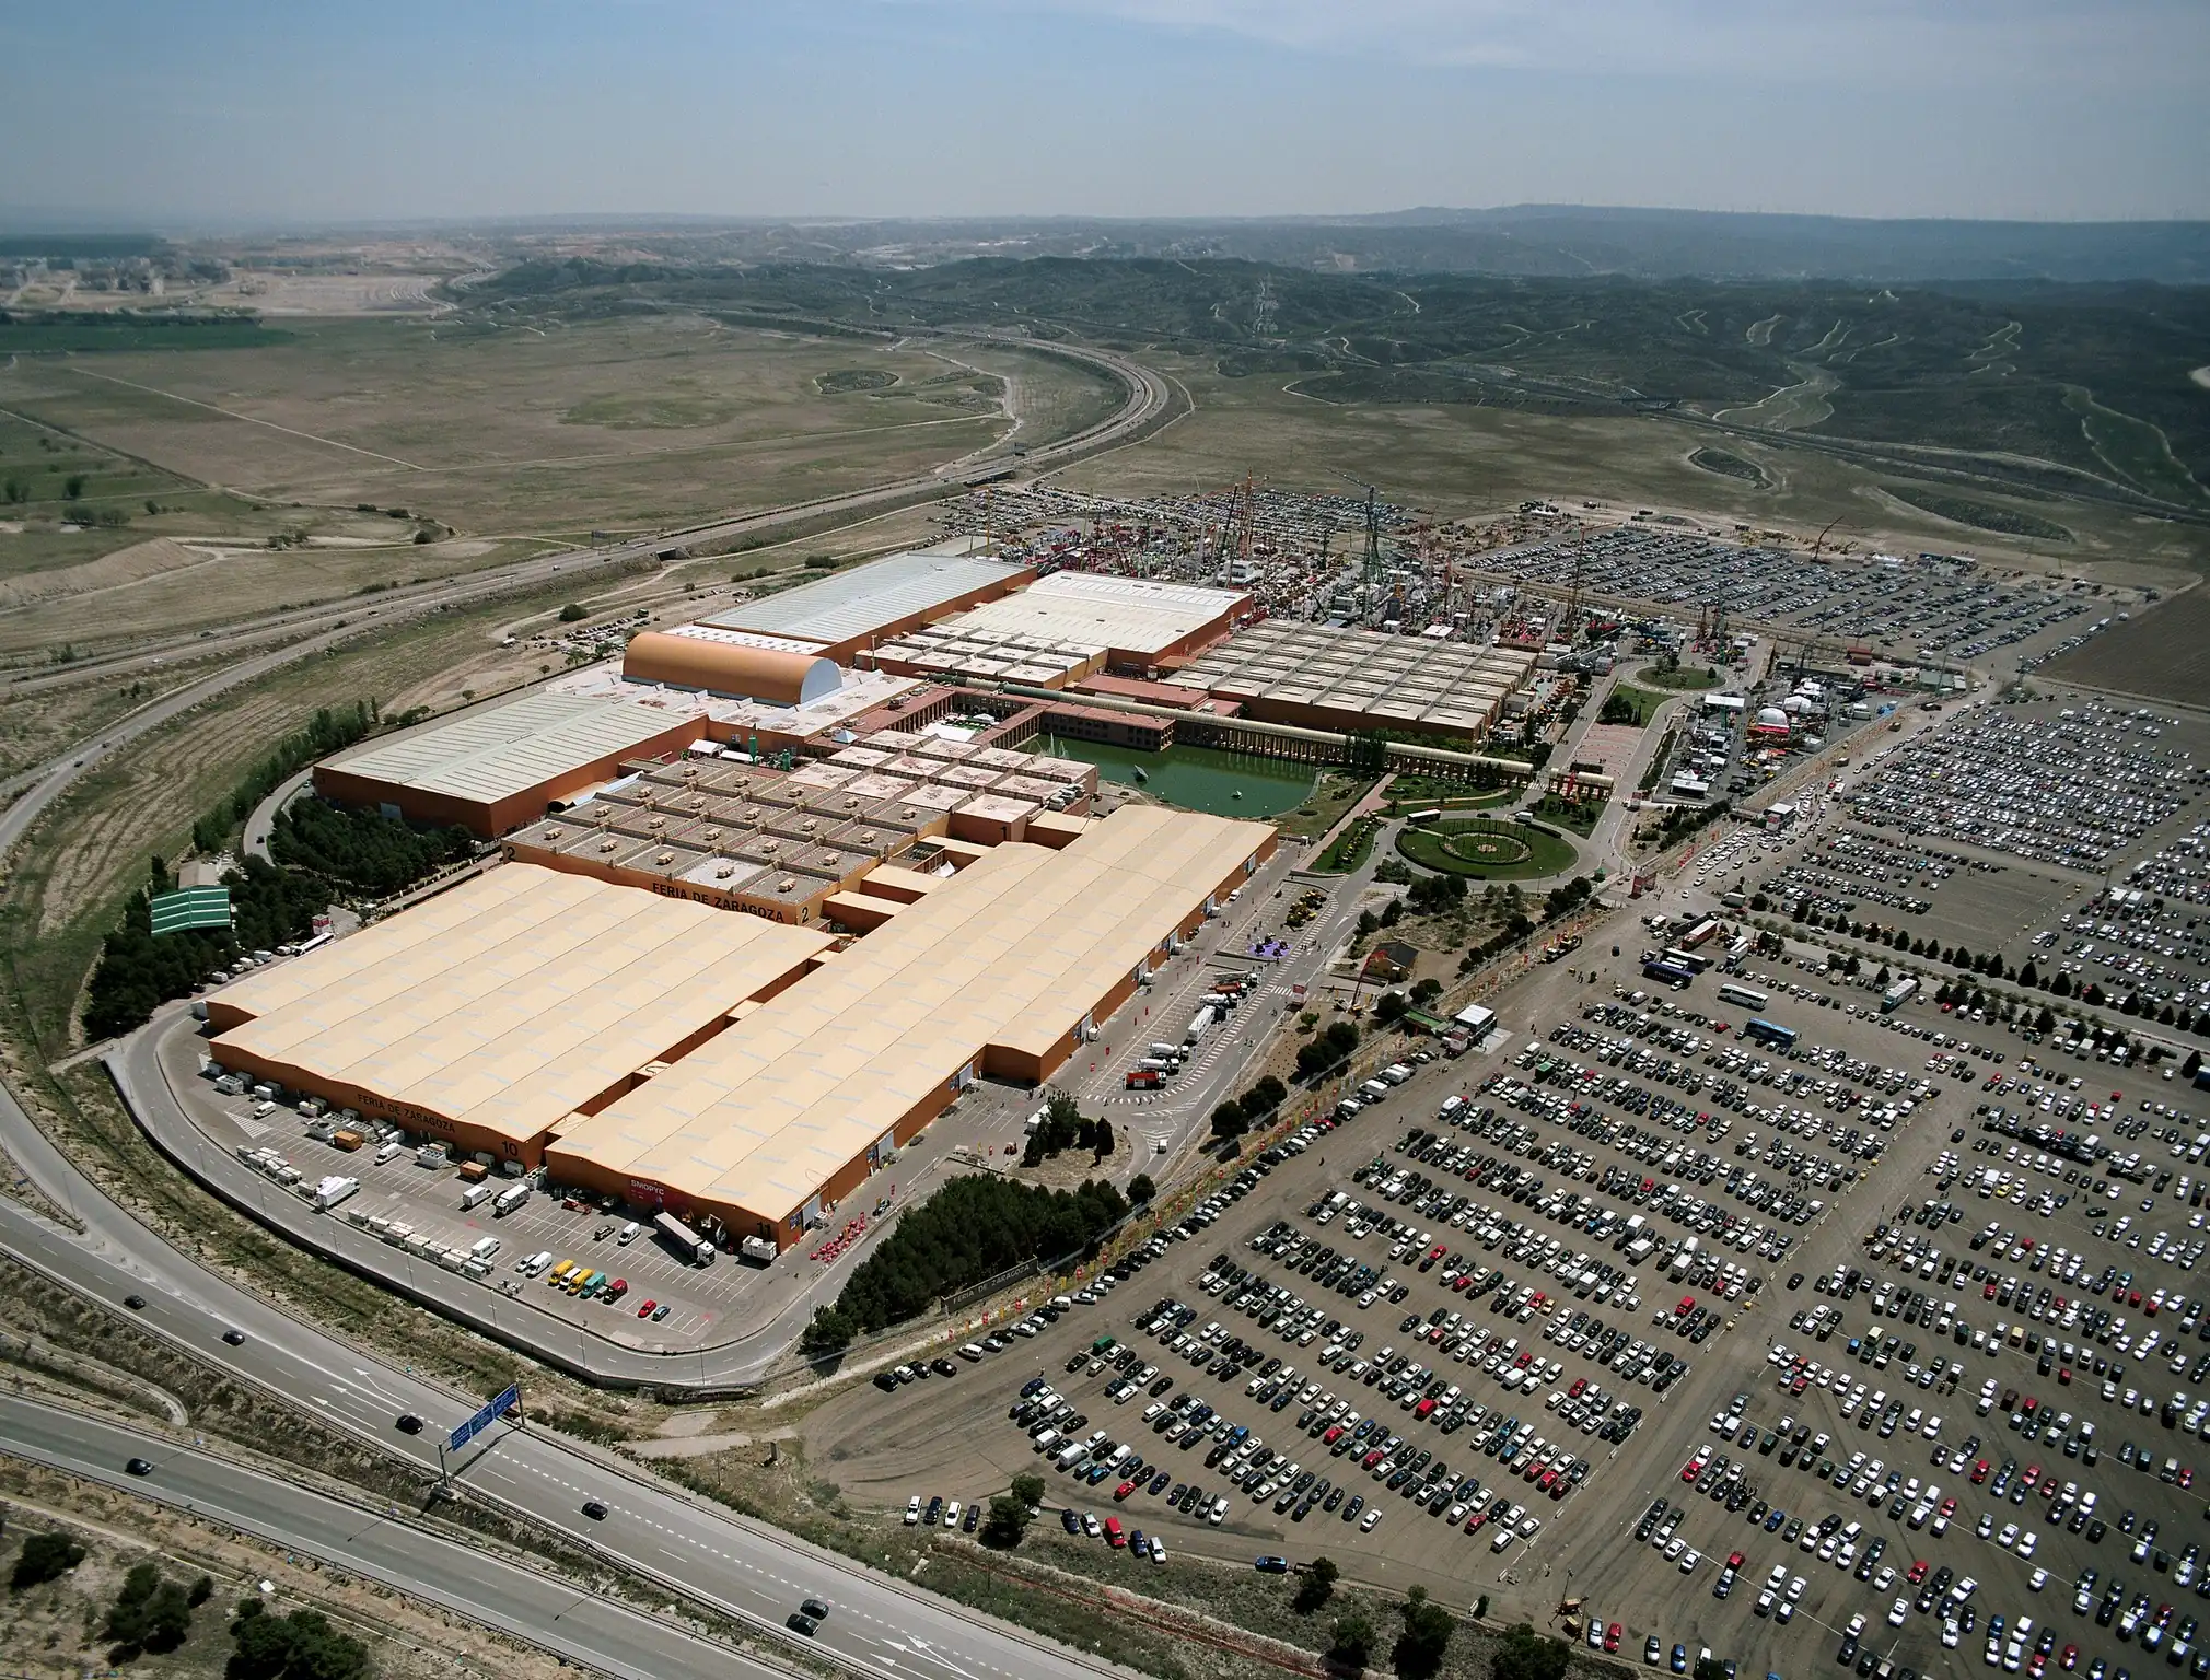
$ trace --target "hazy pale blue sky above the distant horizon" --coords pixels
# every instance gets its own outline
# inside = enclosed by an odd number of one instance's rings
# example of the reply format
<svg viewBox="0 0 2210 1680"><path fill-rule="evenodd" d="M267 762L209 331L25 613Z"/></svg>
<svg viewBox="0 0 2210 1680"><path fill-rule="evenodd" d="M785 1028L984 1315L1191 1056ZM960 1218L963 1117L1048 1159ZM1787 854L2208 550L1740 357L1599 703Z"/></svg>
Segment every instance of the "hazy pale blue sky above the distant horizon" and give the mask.
<svg viewBox="0 0 2210 1680"><path fill-rule="evenodd" d="M0 206L2210 217L2210 0L0 0Z"/></svg>

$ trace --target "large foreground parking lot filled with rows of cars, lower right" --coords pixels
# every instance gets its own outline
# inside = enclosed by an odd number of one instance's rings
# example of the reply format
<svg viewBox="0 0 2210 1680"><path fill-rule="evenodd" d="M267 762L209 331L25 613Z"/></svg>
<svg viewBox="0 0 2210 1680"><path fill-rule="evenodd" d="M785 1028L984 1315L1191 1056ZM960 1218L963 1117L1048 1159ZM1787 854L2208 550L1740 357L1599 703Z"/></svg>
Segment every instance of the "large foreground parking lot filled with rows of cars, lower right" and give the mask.
<svg viewBox="0 0 2210 1680"><path fill-rule="evenodd" d="M1509 988L1498 999L1512 1028L1501 1048L1419 1065L1341 1130L1246 1174L1246 1189L1209 1225L1160 1245L1096 1304L1072 1306L981 1364L955 1364L941 1399L919 1406L904 1388L869 1386L822 1408L807 1426L815 1461L833 1461L846 1492L891 1512L915 1494L924 1508L930 1497L972 1503L1041 1470L1048 1521L1061 1510L1116 1516L1127 1532L1165 1536L1169 1558L1326 1552L1366 1581L1417 1581L1452 1603L1490 1594L1492 1614L1536 1620L1582 1596L1607 1625L1620 1620L1624 1656L1642 1658L1658 1638L1660 1667L1673 1645L1688 1660L1708 1645L1753 1673L1759 1662L1806 1671L1830 1665L1850 1618L1863 1614L1856 1651L1920 1673L1960 1669L1980 1665L2000 1614L2007 1636L2031 1618L2020 1669L2033 1667L2042 1627L2055 1629L2046 1665L2075 1645L2080 1671L2097 1658L2137 1669L2141 1656L2126 1645L2139 1631L2117 1638L2137 1594L2150 1596L2150 1616L2175 1605L2172 1636L2157 1640L2168 1653L2201 1609L2188 1547L2203 1505L2181 1477L2192 1481L2197 1435L2210 1421L2197 1413L2210 1320L2190 1293L2206 1209L2201 1167L2186 1154L2190 1127L2210 1127L2210 1114L2179 1119L2186 1092L2157 1070L2035 1052L2002 1028L1967 1026L1965 1043L1943 1043L1936 1035L1958 1037L1949 1017L1932 1008L1883 1017L1863 977L1823 977L1808 955L1806 966L1753 964L1770 995L1766 1019L1797 1028L1795 1050L1746 1046L1744 1010L1715 999L1717 973L1638 1001L1642 928L1620 915L1585 955L1609 953L1611 937L1620 957L1538 968ZM2049 1077L2024 1068L2031 1054L2046 1057ZM1456 1094L1467 1096L1467 1123L1439 1121ZM2141 1114L2141 1096L2175 1114ZM2004 1114L1980 1114L1982 1105ZM2018 1136L2000 1130L2011 1123ZM2044 1130L2029 1134L2031 1125ZM2179 1143L2157 1136L2170 1127L2181 1127ZM2046 1147L2055 1130L2095 1134L2106 1154L2055 1156ZM2108 1172L2133 1154L2150 1163L2139 1185ZM2159 1191L2166 1167L2172 1176ZM2130 1218L2124 1229L2122 1218ZM1644 1238L1653 1247L1629 1264ZM2150 1333L2159 1340L2144 1355ZM1114 1344L1092 1353L1101 1337ZM1996 1390L1980 1413L1989 1379ZM1032 1382L1065 1399L1056 1424L1070 1428L1050 1452L1030 1439L1030 1428L1052 1428L1048 1413L1008 1417ZM1213 1417L1145 1419L1185 1395L1193 1397L1185 1406L1209 1406ZM2161 1401L2175 1395L2183 1404L2166 1426ZM1313 1421L1299 1428L1306 1415ZM1328 1430L1346 1415L1383 1428L1337 1455ZM1169 1417L1193 1421L1162 1430ZM1726 1439L1717 1417L1737 1419ZM1249 1435L1238 1439L1238 1428ZM1090 1481L1098 1459L1087 1452L1074 1457L1081 1481L1054 1468L1067 1441L1101 1430L1129 1448L1116 1468ZM1797 1435L1808 1452L1797 1452ZM1251 1437L1262 1446L1238 1463ZM2153 1457L2146 1470L2128 1463L2133 1448ZM1708 1450L1697 1470L1706 1485L1693 1488L1680 1474L1699 1450ZM1295 1472L1260 1452L1277 1452ZM1134 1459L1143 1474L1129 1474ZM1976 1483L1980 1459L1989 1468ZM1567 1490L1545 1497L1540 1463L1536 1483L1525 1479L1529 1461L1562 1466ZM1255 1466L1249 1485L1231 1485L1240 1466ZM1299 1494L1306 1472L1313 1481ZM1326 1499L1306 1499L1319 1479L1341 1492L1333 1512ZM1169 1505L1176 1490L1182 1501ZM1430 1512L1421 1490L1441 1492L1441 1505ZM1291 1503L1277 1510L1284 1492ZM2091 1492L2093 1512L2075 1530ZM1364 1505L1346 1521L1350 1499ZM1465 1519L1498 1499L1507 1510L1467 1534ZM1943 1516L1949 1499L1956 1508ZM1635 1539L1655 1501L1666 1503L1653 1523L1664 1545ZM1509 1519L1509 1505L1523 1516ZM1837 1563L1839 1539L1819 1556L1828 1516L1837 1530L1861 1525L1848 1565ZM1498 1521L1527 1519L1540 1527L1494 1550ZM2157 1530L2135 1561L2148 1521ZM1719 1598L1733 1552L1744 1565ZM1909 1583L1920 1558L1927 1576ZM1775 1565L1786 1569L1761 1607ZM2075 1614L2086 1567L2097 1572L2088 1614ZM1920 1585L1940 1569L1949 1569L1943 1603L1927 1596L1918 1609ZM2046 1569L2040 1585L2035 1569ZM1797 1576L1803 1585L1790 1598ZM1951 1618L1936 1611L1967 1576L1974 1589L1956 1605L1956 1645L1945 1647ZM2122 1598L2111 1625L2097 1625L2113 1583ZM1890 1625L1898 1598L1901 1625ZM2192 1660L2186 1640L2183 1665Z"/></svg>

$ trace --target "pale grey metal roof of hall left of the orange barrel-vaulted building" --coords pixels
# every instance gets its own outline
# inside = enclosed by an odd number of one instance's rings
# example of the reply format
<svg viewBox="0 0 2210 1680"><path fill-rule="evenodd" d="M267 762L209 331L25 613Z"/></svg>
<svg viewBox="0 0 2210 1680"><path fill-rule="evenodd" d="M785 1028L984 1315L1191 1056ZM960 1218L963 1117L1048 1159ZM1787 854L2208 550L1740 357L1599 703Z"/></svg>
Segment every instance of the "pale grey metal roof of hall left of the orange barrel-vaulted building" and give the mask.
<svg viewBox="0 0 2210 1680"><path fill-rule="evenodd" d="M334 758L332 767L427 794L488 802L577 765L630 752L683 718L683 712L665 705L533 694Z"/></svg>

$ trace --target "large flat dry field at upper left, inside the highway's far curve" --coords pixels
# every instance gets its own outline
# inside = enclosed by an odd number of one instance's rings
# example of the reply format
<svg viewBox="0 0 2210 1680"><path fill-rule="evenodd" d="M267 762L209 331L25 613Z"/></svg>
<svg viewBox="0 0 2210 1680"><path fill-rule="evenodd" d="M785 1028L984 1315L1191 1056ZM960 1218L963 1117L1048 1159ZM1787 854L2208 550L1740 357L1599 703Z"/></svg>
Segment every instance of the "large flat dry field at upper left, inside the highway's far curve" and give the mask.
<svg viewBox="0 0 2210 1680"><path fill-rule="evenodd" d="M404 504L488 533L681 524L917 471L1003 431L994 402L944 382L961 369L922 351L696 318L287 332L252 349L20 363L0 405L206 484ZM897 385L815 387L855 358Z"/></svg>

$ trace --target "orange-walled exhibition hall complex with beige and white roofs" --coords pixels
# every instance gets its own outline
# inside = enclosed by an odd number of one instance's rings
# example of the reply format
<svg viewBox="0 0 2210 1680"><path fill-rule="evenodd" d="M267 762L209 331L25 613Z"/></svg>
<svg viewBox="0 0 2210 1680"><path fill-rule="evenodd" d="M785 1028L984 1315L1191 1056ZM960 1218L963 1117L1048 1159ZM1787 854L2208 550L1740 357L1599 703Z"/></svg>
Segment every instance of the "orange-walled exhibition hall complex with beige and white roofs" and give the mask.
<svg viewBox="0 0 2210 1680"><path fill-rule="evenodd" d="M212 993L210 1070L789 1247L977 1079L1052 1079L1273 855L997 745L1156 734L1112 685L1202 701L1249 612L897 555L336 754L323 798L506 862Z"/></svg>

